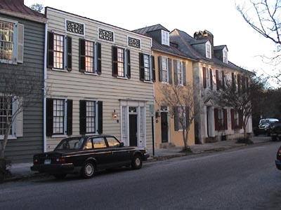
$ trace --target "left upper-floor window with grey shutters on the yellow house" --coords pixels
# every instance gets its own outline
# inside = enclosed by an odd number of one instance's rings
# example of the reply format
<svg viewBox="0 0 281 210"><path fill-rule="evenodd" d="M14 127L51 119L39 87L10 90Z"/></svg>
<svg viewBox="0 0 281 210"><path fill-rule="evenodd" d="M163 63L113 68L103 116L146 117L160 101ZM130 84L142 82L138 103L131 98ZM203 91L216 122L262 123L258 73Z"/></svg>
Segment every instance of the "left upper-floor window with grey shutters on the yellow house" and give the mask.
<svg viewBox="0 0 281 210"><path fill-rule="evenodd" d="M171 59L159 56L159 81L172 83L171 80Z"/></svg>

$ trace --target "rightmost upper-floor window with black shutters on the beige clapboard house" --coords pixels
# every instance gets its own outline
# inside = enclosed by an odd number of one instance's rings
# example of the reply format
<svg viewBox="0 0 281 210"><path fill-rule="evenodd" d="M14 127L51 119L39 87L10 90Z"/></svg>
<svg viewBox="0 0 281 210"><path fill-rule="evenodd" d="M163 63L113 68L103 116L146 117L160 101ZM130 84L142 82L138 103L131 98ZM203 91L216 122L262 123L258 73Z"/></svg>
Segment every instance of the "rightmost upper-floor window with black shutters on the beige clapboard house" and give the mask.
<svg viewBox="0 0 281 210"><path fill-rule="evenodd" d="M155 82L154 56L139 53L140 59L140 80Z"/></svg>

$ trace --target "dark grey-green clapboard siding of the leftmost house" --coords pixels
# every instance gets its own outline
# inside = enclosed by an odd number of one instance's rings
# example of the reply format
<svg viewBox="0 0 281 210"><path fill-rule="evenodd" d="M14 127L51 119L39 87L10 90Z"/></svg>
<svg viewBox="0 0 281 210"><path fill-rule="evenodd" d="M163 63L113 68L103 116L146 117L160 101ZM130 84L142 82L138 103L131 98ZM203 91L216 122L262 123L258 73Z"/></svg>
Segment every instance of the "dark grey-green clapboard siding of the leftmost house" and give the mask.
<svg viewBox="0 0 281 210"><path fill-rule="evenodd" d="M21 69L34 73L41 78L43 87L44 24L2 14L0 18L16 20L24 25L23 64L13 65L13 68L18 69L19 73ZM0 69L4 65L0 64ZM0 76L1 73L4 71L1 70ZM30 162L34 153L43 151L43 99L34 96L33 100L35 104L23 111L23 137L8 140L5 155L12 162Z"/></svg>

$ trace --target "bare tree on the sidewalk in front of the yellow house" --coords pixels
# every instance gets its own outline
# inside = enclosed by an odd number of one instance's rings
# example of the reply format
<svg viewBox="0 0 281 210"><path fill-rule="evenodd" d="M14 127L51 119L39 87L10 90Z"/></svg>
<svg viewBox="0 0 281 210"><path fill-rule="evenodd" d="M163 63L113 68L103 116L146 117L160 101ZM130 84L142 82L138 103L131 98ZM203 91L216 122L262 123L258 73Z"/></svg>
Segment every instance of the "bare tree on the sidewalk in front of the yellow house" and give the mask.
<svg viewBox="0 0 281 210"><path fill-rule="evenodd" d="M186 85L169 85L162 84L159 88L162 98L158 104L164 104L169 107L170 114L174 116L175 124L183 130L183 151L190 152L188 146L188 132L190 124L195 118L194 98L192 84Z"/></svg>

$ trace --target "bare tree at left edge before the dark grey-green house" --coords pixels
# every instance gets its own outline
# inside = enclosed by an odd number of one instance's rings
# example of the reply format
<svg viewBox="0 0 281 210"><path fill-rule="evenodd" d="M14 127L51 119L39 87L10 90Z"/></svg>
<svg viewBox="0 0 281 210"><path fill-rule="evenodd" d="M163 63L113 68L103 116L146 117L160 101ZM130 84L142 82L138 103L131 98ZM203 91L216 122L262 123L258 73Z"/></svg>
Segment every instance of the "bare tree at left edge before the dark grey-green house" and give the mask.
<svg viewBox="0 0 281 210"><path fill-rule="evenodd" d="M43 78L25 66L1 65L0 76L0 159L5 158L5 149L11 127L17 116L27 107L32 107L43 98Z"/></svg>

